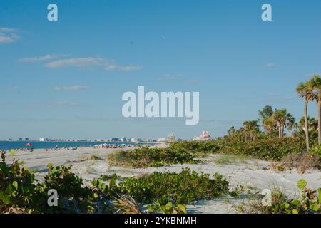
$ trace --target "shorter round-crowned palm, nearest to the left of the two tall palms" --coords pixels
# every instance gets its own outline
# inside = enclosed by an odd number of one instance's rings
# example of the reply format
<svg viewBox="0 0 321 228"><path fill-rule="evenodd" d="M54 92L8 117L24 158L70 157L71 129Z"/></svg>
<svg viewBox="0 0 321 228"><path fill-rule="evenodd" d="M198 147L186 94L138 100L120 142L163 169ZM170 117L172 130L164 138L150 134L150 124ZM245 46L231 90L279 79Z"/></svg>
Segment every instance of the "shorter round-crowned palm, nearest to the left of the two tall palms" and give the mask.
<svg viewBox="0 0 321 228"><path fill-rule="evenodd" d="M292 127L295 125L295 118L292 114L287 113L286 109L275 110L272 115L272 121L279 130L279 138L284 137L285 127L287 127L288 130L292 130Z"/></svg>

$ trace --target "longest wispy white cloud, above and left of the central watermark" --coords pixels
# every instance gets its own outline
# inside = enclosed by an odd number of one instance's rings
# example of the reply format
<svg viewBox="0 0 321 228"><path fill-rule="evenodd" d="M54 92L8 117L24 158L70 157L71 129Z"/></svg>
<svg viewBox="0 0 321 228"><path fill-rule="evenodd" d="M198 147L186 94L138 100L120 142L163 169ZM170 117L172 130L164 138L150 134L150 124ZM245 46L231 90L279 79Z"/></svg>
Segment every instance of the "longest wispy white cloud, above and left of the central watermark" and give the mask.
<svg viewBox="0 0 321 228"><path fill-rule="evenodd" d="M104 58L86 57L86 58L66 58L57 61L46 63L46 68L63 68L63 67L78 67L78 68L103 68L106 71L136 71L141 69L141 66L120 66L114 61L108 61Z"/></svg>

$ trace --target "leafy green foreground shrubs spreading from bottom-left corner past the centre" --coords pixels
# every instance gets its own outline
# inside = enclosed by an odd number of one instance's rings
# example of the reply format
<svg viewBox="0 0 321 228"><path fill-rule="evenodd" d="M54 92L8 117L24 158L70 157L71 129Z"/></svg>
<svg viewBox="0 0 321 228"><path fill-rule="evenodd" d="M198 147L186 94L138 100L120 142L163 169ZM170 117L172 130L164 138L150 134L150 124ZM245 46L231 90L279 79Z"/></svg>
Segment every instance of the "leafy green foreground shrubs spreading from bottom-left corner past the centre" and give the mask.
<svg viewBox="0 0 321 228"><path fill-rule="evenodd" d="M213 199L228 193L228 181L221 175L198 174L188 169L180 173L154 172L145 177L122 178L102 176L91 185L71 172L71 167L54 167L44 182L21 168L18 161L6 165L6 155L0 162L0 212L17 213L114 213L141 212L138 205L148 204L148 212L186 213L185 204L200 199ZM106 184L104 180L109 180ZM58 192L58 206L49 207L49 190Z"/></svg>

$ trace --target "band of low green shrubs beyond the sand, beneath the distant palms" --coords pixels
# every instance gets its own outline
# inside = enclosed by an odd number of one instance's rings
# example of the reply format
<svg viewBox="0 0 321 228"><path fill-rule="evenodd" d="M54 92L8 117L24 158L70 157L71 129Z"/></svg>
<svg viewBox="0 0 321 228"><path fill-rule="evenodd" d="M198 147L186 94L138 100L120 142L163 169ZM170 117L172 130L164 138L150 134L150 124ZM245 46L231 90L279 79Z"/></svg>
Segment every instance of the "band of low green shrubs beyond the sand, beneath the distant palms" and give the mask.
<svg viewBox="0 0 321 228"><path fill-rule="evenodd" d="M173 142L168 148L163 149L142 147L136 150L118 151L110 155L109 160L113 165L137 168L195 164L201 162L198 157L210 154L224 154L215 160L219 164L246 162L250 157L280 162L287 155L300 155L305 152L305 141L302 138L269 139L264 135L257 135L253 140L253 135L248 135L246 140L240 140L237 134L235 132L228 137L205 142ZM313 149L310 152L320 154L320 147L316 146L315 140L312 141L312 145Z"/></svg>

